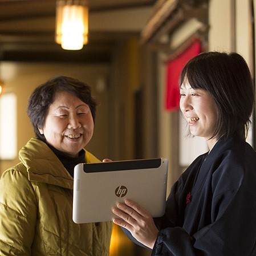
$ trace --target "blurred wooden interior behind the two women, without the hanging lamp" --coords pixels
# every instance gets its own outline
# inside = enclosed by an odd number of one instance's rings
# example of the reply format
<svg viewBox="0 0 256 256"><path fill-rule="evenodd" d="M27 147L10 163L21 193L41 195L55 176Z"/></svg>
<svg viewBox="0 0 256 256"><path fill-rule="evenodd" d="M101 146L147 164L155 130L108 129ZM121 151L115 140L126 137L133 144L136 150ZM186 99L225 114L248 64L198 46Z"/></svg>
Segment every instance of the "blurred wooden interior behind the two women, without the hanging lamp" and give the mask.
<svg viewBox="0 0 256 256"><path fill-rule="evenodd" d="M79 1L64 1L79 2ZM0 0L0 174L34 136L26 115L32 90L66 75L92 87L98 106L87 149L99 159L165 157L171 185L208 151L187 138L177 79L192 56L237 51L255 73L253 0L88 0L88 43L55 42L55 0ZM255 118L248 141L255 145ZM153 185L153 184L152 184ZM99 198L100 200L100 198ZM144 256L113 230L111 256Z"/></svg>

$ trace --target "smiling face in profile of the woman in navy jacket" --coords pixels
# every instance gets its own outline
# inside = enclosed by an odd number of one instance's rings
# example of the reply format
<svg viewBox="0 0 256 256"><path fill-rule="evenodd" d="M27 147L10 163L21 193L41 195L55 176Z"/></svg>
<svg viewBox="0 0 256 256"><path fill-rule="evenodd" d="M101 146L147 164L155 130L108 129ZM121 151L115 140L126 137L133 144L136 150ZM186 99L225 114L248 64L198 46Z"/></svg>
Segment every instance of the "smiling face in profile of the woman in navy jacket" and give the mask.
<svg viewBox="0 0 256 256"><path fill-rule="evenodd" d="M209 140L217 124L217 107L209 92L193 89L185 79L180 87L180 109L192 135L204 137L209 147L216 142L216 139Z"/></svg>

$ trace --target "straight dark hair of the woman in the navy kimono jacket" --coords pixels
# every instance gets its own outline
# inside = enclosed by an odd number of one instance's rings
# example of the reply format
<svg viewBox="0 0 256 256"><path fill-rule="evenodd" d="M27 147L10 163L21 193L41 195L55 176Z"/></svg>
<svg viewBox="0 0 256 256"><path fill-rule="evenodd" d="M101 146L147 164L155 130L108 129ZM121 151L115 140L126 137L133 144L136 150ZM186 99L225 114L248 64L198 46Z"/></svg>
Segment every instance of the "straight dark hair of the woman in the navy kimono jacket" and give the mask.
<svg viewBox="0 0 256 256"><path fill-rule="evenodd" d="M245 59L235 52L205 52L189 60L180 75L194 89L213 96L217 127L212 137L246 137L254 107L254 86Z"/></svg>

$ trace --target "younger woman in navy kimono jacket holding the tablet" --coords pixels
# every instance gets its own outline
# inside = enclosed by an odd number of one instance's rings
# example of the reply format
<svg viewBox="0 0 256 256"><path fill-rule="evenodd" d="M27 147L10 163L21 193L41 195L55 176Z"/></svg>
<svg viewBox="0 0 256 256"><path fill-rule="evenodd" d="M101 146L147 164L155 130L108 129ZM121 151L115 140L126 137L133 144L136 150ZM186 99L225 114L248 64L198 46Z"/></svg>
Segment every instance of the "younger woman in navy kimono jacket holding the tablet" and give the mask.
<svg viewBox="0 0 256 256"><path fill-rule="evenodd" d="M153 220L127 200L113 209L113 222L154 256L256 255L256 153L245 141L253 107L241 55L208 52L190 60L180 77L180 109L210 151L173 185L163 217Z"/></svg>

